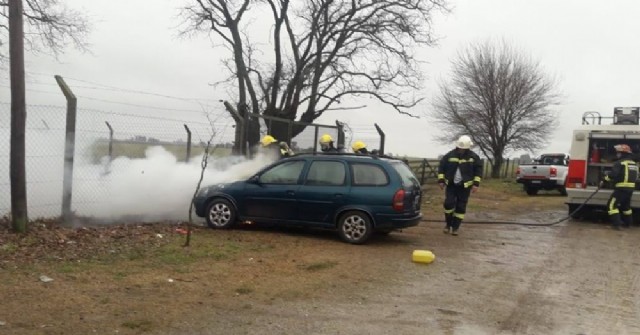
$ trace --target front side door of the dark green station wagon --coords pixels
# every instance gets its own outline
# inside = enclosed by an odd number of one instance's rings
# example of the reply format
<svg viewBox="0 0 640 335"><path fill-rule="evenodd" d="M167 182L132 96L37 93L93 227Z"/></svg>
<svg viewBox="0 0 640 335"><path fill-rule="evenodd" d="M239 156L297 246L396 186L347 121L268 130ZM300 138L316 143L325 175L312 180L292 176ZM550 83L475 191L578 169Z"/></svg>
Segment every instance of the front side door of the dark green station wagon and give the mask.
<svg viewBox="0 0 640 335"><path fill-rule="evenodd" d="M252 220L295 220L296 193L304 160L288 160L250 179L244 190L244 216Z"/></svg>

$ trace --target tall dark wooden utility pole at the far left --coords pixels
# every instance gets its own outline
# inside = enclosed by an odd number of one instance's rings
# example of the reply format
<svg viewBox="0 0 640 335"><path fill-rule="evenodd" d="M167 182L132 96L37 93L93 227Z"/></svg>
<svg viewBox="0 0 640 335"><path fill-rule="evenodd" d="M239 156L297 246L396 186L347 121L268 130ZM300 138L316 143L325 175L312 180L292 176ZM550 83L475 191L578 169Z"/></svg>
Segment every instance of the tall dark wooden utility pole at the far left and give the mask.
<svg viewBox="0 0 640 335"><path fill-rule="evenodd" d="M24 22L22 0L9 0L9 58L11 77L11 225L19 233L27 231L27 173L25 129L27 105L24 80Z"/></svg>

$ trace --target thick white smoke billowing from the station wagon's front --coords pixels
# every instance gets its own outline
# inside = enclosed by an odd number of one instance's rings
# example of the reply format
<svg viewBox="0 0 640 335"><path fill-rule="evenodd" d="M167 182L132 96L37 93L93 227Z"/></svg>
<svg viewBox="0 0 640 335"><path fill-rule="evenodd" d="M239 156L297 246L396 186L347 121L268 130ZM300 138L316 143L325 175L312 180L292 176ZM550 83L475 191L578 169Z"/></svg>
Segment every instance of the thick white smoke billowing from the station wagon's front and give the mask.
<svg viewBox="0 0 640 335"><path fill-rule="evenodd" d="M249 178L274 161L258 154L254 159L230 156L209 157L202 187ZM118 157L110 166L82 164L82 175L94 176L86 182L74 182L73 204L77 215L106 220L184 220L196 190L202 157L189 163L177 158L161 146L146 150L145 158ZM76 173L74 172L74 175Z"/></svg>

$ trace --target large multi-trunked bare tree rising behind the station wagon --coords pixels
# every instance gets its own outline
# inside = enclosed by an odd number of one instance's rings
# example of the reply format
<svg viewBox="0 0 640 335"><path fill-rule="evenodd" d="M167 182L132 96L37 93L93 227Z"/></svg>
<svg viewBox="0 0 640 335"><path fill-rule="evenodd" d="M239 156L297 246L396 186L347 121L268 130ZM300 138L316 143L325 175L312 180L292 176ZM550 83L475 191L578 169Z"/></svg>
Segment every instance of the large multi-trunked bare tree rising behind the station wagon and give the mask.
<svg viewBox="0 0 640 335"><path fill-rule="evenodd" d="M272 23L273 54L261 61L258 44L242 31L252 8L268 10ZM435 44L433 15L448 10L446 0L192 0L183 8L183 33L213 32L229 48L240 114L311 122L363 96L415 116L408 109L421 100L415 92L423 78L414 51ZM257 129L249 130L254 144ZM286 129L269 131L284 138Z"/></svg>

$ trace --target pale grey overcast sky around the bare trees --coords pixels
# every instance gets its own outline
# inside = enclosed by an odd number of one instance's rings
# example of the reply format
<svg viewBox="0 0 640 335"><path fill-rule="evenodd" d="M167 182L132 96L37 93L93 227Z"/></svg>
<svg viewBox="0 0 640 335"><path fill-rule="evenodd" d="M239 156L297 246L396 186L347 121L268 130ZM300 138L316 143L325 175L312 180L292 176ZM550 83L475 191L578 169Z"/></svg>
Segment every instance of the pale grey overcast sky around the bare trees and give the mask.
<svg viewBox="0 0 640 335"><path fill-rule="evenodd" d="M222 79L219 56L224 48L214 48L206 37L177 37L177 7L169 0L67 0L70 7L84 11L93 31L89 36L91 54L69 49L58 61L47 55L27 56L28 104L63 105L56 94L52 76L68 78L80 96L80 107L121 110L132 106L176 106L198 110L203 101L220 109L218 99L228 99L223 89L209 84ZM453 13L438 16L435 32L438 47L420 50L427 62L422 95L429 101L436 94L438 80L447 80L450 60L471 42L505 39L538 60L550 76L559 79L565 96L558 106L560 127L550 145L542 151L568 151L570 133L580 124L585 111L610 115L616 106L640 105L637 78L640 78L640 2L634 0L458 0ZM9 102L8 70L1 85L4 102ZM98 85L103 89L95 89ZM93 88L92 88L93 87ZM159 93L195 102L158 96L114 92L105 87ZM102 101L101 101L102 100ZM174 105L175 104L175 105ZM320 121L347 122L354 139L372 138L373 123L387 133L387 151L419 157L436 157L451 145L436 143L437 129L426 118L400 116L390 108L363 102L359 111L330 112ZM428 104L411 112L423 115ZM158 113L137 108L137 113ZM171 113L164 111L163 113ZM370 143L374 148L377 144ZM539 154L537 152L535 154Z"/></svg>

